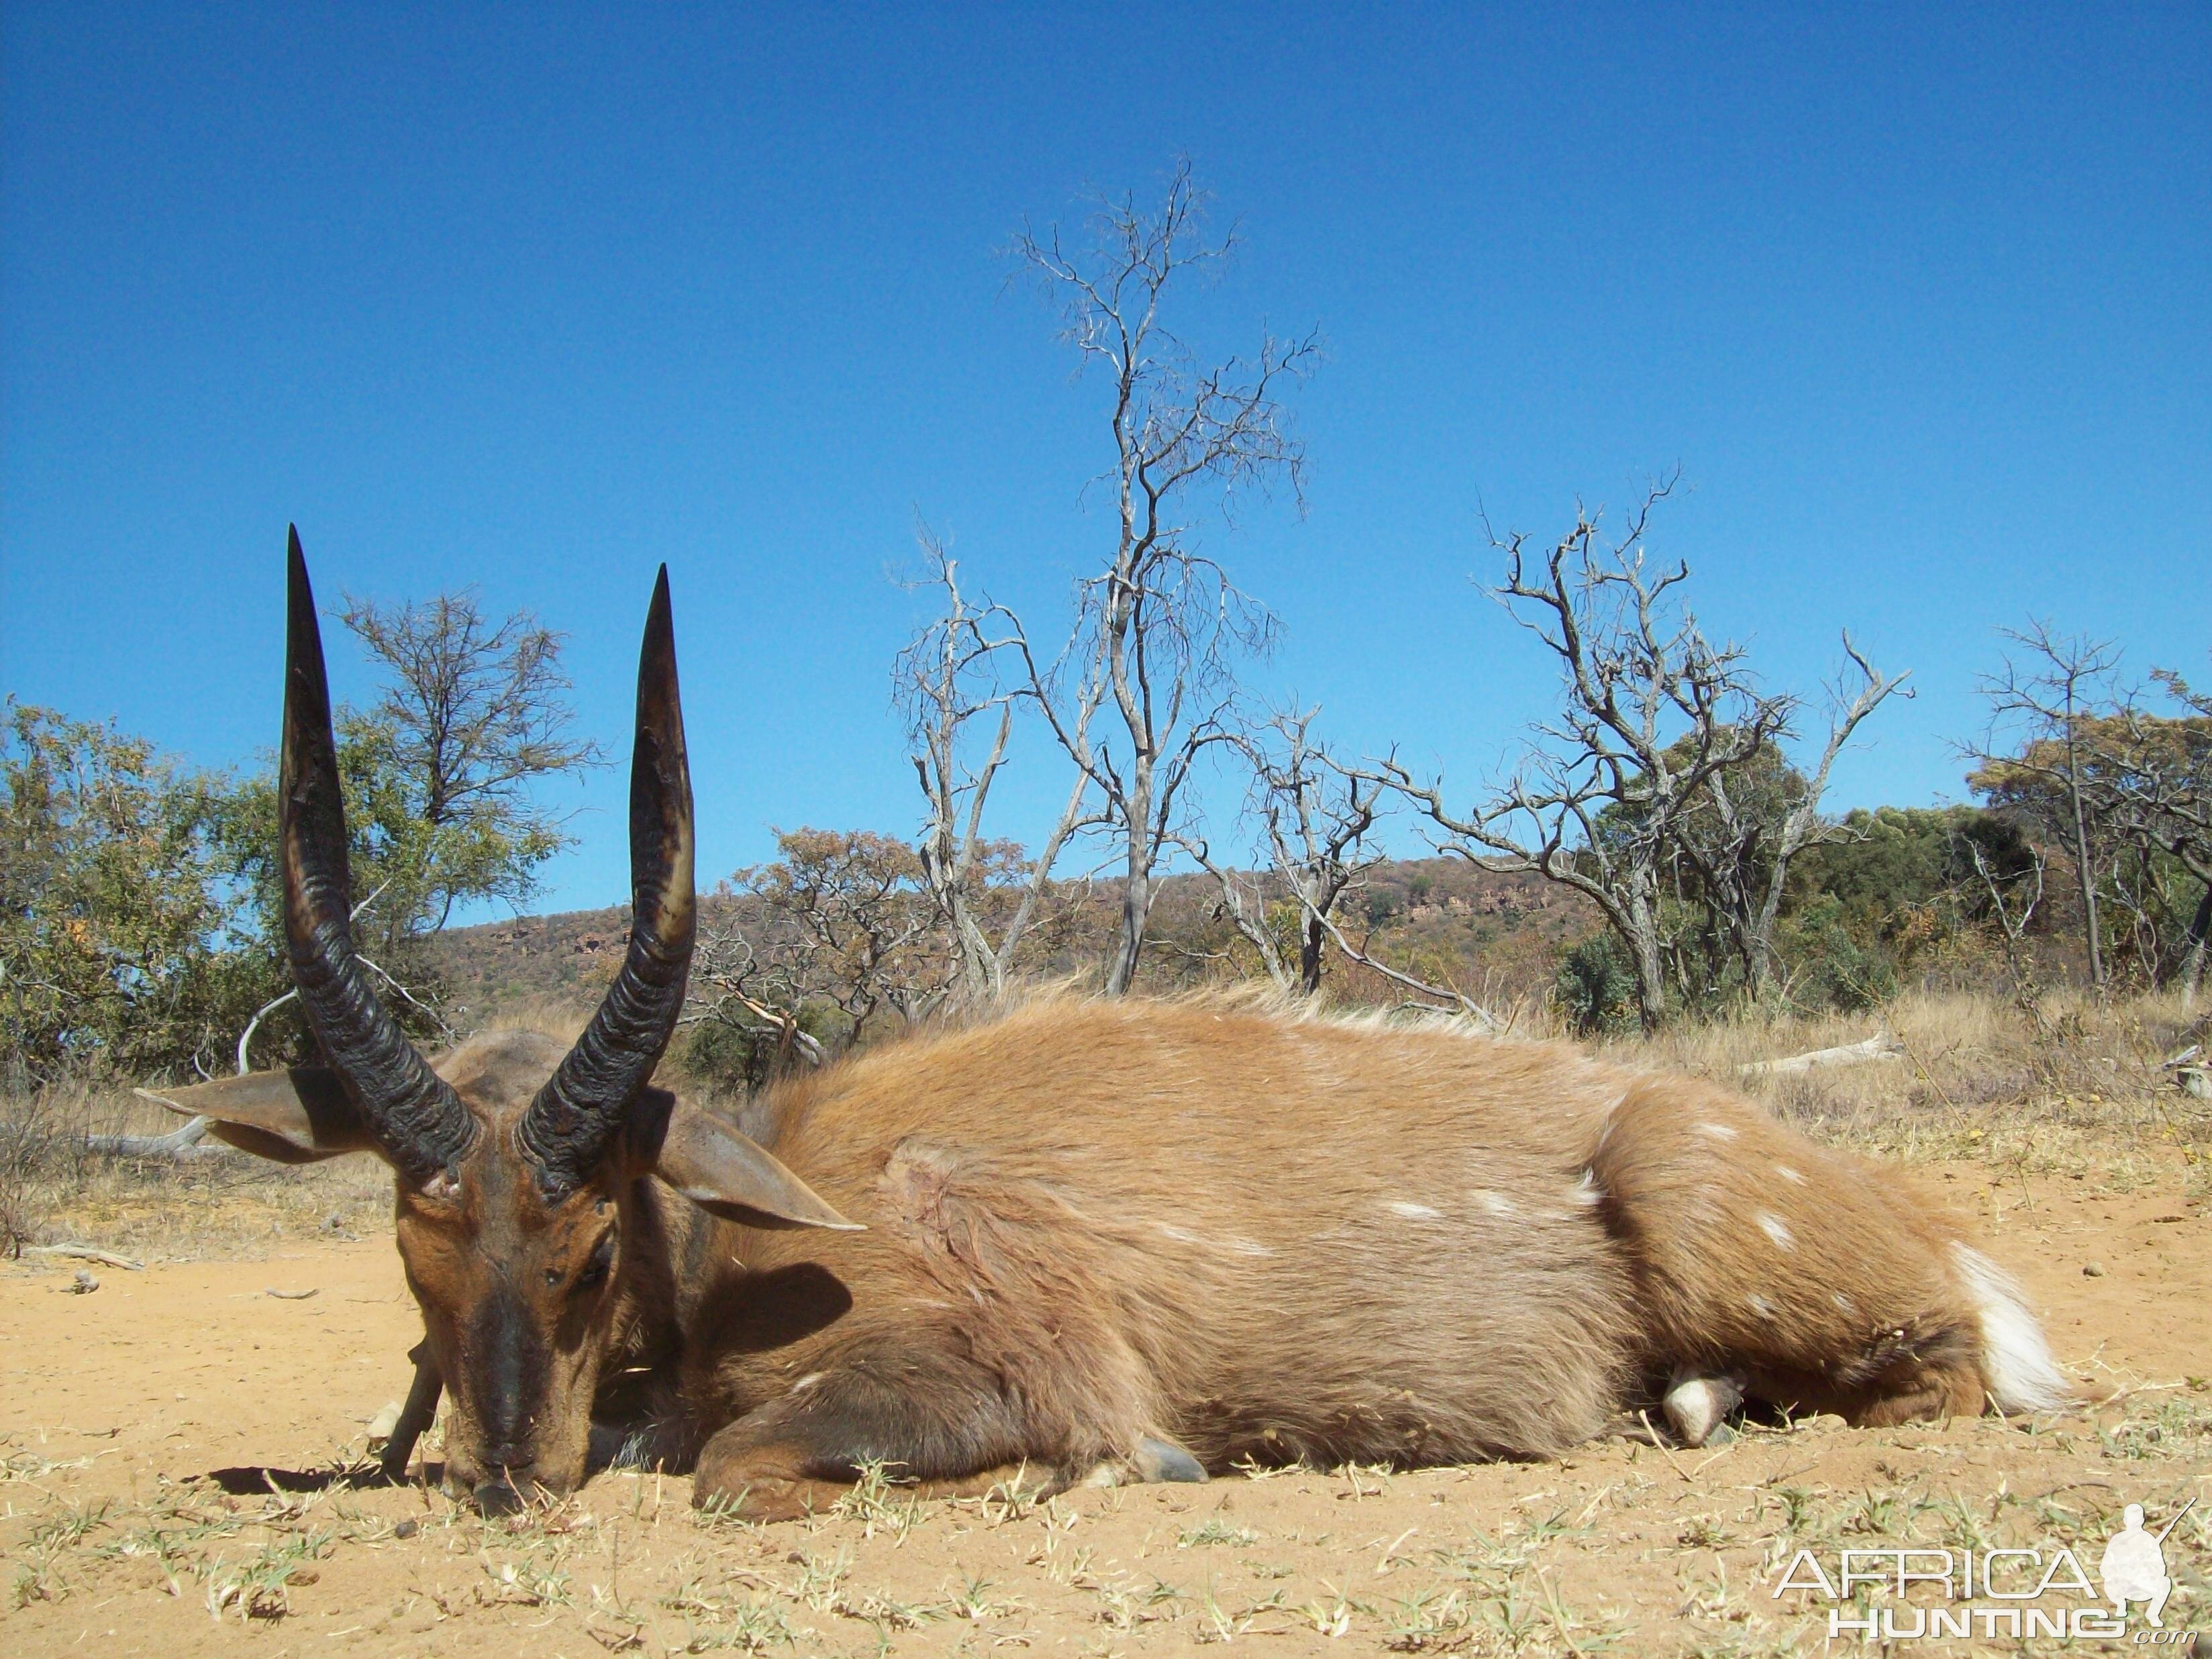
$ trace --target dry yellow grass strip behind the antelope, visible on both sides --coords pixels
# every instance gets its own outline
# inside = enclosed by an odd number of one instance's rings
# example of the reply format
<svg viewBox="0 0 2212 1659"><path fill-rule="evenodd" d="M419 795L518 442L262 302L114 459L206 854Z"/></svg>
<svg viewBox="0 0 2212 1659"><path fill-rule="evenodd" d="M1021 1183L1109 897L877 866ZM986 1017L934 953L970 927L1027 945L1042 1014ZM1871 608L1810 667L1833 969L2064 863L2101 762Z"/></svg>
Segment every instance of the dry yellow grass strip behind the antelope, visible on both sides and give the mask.
<svg viewBox="0 0 2212 1659"><path fill-rule="evenodd" d="M502 1026L571 1040L588 1009L540 998ZM1918 993L1865 1015L1747 1015L1617 1037L1599 1051L1644 1068L1690 1071L1765 1099L1818 1139L1909 1161L1975 1159L2013 1175L2086 1175L2115 1190L2174 1179L2212 1190L2212 1106L2161 1062L2203 1035L2179 998L2046 998L2035 1013L1980 993ZM1902 1040L1902 1060L1743 1077L1756 1060ZM1520 1035L1548 1035L1524 1009ZM100 1157L86 1135L159 1135L177 1119L124 1088L55 1084L0 1095L0 1254L91 1241L170 1259L254 1254L285 1234L389 1225L372 1159L279 1168L241 1152L188 1164Z"/></svg>

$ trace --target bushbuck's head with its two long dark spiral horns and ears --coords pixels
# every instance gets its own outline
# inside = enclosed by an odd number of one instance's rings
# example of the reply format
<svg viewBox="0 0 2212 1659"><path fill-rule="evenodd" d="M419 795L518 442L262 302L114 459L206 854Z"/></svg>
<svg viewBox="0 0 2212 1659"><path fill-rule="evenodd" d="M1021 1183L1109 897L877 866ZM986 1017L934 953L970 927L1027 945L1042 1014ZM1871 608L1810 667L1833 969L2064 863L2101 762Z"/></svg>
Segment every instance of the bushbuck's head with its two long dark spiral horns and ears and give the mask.
<svg viewBox="0 0 2212 1659"><path fill-rule="evenodd" d="M418 1433L449 1398L449 1491L487 1509L584 1478L591 1405L624 1318L639 1181L757 1225L849 1228L761 1146L653 1088L684 1009L695 931L692 794L668 568L646 611L630 754L630 942L573 1046L491 1033L436 1064L385 1011L354 951L330 684L299 531L288 549L279 838L292 982L319 1066L157 1095L288 1164L374 1152L396 1177L398 1248L422 1305Z"/></svg>

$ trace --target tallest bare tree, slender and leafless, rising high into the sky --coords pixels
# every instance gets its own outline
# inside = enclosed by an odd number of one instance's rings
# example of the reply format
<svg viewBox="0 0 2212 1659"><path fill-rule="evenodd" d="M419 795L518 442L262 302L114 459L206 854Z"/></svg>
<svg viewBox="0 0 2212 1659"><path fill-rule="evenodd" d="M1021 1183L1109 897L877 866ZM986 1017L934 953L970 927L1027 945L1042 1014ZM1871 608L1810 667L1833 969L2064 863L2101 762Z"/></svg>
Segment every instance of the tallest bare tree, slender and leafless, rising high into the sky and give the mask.
<svg viewBox="0 0 2212 1659"><path fill-rule="evenodd" d="M1241 491L1287 482L1303 507L1305 449L1290 431L1285 380L1303 378L1318 338L1263 334L1252 358L1206 365L1164 312L1192 281L1221 270L1237 232L1206 234L1206 195L1190 164L1168 177L1157 210L1099 197L1079 248L1026 226L1013 239L1018 274L1055 303L1077 374L1110 385L1115 502L1110 557L1077 582L1066 648L1040 664L1020 653L1053 737L1097 790L1121 865L1121 927L1106 991L1128 991L1152 914L1155 869L1186 825L1186 790L1201 757L1234 737L1234 664L1263 655L1272 615L1197 551L1199 493L1228 513ZM1088 710L1106 708L1110 734Z"/></svg>

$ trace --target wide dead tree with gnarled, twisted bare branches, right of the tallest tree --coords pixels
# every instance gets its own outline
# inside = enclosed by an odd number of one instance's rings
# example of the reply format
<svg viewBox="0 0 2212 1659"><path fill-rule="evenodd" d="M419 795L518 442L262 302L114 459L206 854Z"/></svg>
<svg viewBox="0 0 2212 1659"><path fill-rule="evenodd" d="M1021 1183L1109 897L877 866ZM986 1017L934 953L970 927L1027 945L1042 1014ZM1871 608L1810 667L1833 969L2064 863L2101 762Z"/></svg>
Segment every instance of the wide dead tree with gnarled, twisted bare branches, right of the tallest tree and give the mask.
<svg viewBox="0 0 2212 1659"><path fill-rule="evenodd" d="M1714 852L1697 843L1692 818L1714 818L1732 779L1770 761L1801 710L1796 697L1759 688L1739 646L1705 639L1679 593L1688 564L1648 568L1644 535L1672 487L1668 478L1646 491L1617 542L1599 535L1599 513L1577 507L1537 571L1526 535L1491 535L1506 560L1495 597L1559 661L1559 712L1535 726L1520 768L1489 801L1455 812L1440 779L1418 781L1396 759L1363 768L1420 807L1442 832L1440 852L1533 869L1590 898L1628 947L1646 1029L1666 1018L1666 878L1679 860ZM1820 834L1829 763L1902 679L1876 675L1856 650L1851 659L1865 686L1838 703L1814 779L1778 830L1756 827L1765 838L1756 865L1772 874L1756 891L1743 887L1741 922L1745 958L1761 967L1787 858ZM1736 816L1736 836L1752 836L1752 818Z"/></svg>

